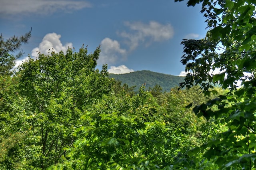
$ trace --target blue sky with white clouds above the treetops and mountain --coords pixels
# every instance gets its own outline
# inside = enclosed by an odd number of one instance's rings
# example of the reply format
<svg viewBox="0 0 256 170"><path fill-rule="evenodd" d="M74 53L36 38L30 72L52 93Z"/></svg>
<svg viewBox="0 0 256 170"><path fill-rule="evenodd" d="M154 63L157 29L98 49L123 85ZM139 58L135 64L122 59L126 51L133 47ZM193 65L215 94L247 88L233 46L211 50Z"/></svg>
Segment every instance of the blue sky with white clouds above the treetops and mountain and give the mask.
<svg viewBox="0 0 256 170"><path fill-rule="evenodd" d="M109 73L150 70L184 75L182 39L200 39L206 23L200 5L186 0L0 0L0 33L7 39L30 31L22 63L37 51L100 45L97 68Z"/></svg>

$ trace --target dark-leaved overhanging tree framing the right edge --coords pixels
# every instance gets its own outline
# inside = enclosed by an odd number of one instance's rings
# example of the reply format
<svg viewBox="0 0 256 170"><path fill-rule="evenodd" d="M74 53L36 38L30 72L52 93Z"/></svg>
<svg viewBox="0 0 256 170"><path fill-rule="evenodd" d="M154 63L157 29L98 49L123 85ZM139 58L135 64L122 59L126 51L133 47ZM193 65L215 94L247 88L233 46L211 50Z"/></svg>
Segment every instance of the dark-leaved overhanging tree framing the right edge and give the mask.
<svg viewBox="0 0 256 170"><path fill-rule="evenodd" d="M198 117L224 119L227 130L190 153L204 152L204 158L220 169L252 169L256 167L256 1L188 0L187 5L199 3L209 30L204 39L182 41L181 62L188 73L180 86L200 84L205 95L216 93L211 90L214 84L230 91L193 109ZM215 69L219 73L213 74Z"/></svg>

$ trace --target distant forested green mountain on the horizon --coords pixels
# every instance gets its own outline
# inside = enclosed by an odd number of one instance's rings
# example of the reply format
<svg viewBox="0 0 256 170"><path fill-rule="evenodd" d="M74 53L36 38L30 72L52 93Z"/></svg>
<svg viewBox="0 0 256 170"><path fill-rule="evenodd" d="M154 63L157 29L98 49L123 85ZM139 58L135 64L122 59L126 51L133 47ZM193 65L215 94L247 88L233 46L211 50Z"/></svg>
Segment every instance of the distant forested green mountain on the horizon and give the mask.
<svg viewBox="0 0 256 170"><path fill-rule="evenodd" d="M153 71L134 71L125 74L109 74L109 77L126 83L129 87L136 86L135 91L138 91L140 86L146 83L148 87L153 88L155 85L160 85L163 91L170 91L172 87L179 86L179 83L184 81L184 77L168 75L163 73L156 73Z"/></svg>

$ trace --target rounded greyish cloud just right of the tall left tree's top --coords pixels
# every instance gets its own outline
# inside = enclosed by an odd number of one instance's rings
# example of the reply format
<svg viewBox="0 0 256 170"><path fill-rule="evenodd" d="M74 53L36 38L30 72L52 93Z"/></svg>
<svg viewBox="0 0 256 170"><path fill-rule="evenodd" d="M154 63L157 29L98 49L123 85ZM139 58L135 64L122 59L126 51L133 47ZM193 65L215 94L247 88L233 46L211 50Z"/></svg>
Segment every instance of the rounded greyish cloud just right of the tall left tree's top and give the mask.
<svg viewBox="0 0 256 170"><path fill-rule="evenodd" d="M126 56L126 49L120 47L120 43L110 38L104 38L100 43L100 57L99 64L114 64L118 59L124 59Z"/></svg>

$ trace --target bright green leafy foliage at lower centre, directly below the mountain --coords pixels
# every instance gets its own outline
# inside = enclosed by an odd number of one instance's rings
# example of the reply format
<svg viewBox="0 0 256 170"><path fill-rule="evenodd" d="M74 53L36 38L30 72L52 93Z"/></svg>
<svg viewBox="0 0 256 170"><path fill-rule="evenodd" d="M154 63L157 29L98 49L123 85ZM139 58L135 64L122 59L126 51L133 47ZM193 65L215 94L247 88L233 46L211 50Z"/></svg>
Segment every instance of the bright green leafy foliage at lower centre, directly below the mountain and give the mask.
<svg viewBox="0 0 256 170"><path fill-rule="evenodd" d="M178 155L194 146L194 138L190 138L194 132L185 132L182 121L172 119L173 114L180 113L179 107L160 111L154 97L144 88L142 86L133 97L124 90L118 96L106 95L88 109L82 116L84 126L74 133L78 140L67 149L67 162L59 166L69 169L168 169L180 160ZM168 98L177 99L178 95L170 93ZM166 101L165 107L172 104Z"/></svg>

